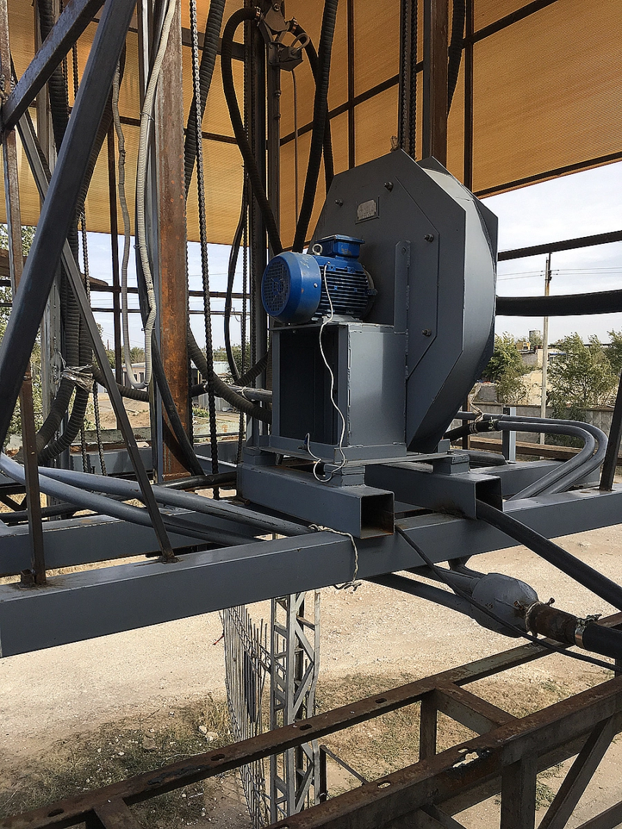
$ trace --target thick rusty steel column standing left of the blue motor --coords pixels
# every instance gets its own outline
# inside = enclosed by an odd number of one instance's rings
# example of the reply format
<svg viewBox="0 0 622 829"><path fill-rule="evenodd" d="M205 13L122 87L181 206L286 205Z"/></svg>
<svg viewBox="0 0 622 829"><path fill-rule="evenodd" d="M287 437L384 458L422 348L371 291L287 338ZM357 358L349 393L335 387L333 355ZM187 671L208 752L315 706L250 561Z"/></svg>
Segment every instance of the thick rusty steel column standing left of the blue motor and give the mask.
<svg viewBox="0 0 622 829"><path fill-rule="evenodd" d="M155 103L158 203L154 206L154 215L158 216L158 342L173 401L183 428L189 434L182 89L182 17L180 4L177 4ZM162 467L158 468L158 478L180 478L187 474L187 470L179 459L177 441L168 428L159 395L157 405L163 437Z"/></svg>

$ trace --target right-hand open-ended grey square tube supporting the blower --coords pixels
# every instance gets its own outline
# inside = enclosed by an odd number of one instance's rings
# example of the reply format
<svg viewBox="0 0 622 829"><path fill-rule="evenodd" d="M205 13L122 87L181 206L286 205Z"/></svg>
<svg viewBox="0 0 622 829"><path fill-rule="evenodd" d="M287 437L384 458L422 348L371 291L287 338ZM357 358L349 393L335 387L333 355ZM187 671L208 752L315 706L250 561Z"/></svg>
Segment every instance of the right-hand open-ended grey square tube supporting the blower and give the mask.
<svg viewBox="0 0 622 829"><path fill-rule="evenodd" d="M453 458L449 455L447 459ZM424 463L368 463L365 482L371 487L390 490L395 494L396 501L435 512L459 513L475 518L478 500L503 509L500 478L469 472L468 463L464 463L464 472L455 473L439 472L437 466L435 463L432 466ZM451 469L449 463L445 464L445 468L448 471Z"/></svg>

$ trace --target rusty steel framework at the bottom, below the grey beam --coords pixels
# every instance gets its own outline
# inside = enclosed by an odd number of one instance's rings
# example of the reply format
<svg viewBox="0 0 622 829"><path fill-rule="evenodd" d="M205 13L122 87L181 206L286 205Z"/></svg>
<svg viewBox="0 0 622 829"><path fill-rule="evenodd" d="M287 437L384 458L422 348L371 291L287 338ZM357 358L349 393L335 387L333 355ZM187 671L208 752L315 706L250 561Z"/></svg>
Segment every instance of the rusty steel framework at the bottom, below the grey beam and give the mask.
<svg viewBox="0 0 622 829"><path fill-rule="evenodd" d="M605 619L604 623L620 626L622 613ZM622 678L604 681L522 718L514 718L462 686L532 662L547 653L545 647L535 643L515 647L240 743L6 818L0 821L0 829L59 829L84 821L87 827L97 829L134 829L140 826L129 809L134 803L294 749L309 738L320 739L416 702L423 703L422 715L424 705L427 706L430 722L435 720L438 710L447 710L449 716L479 736L440 754L430 746L420 762L287 817L273 824L272 829L351 829L353 826L400 829L436 825L456 829L460 824L451 815L499 791L502 815L509 814L510 807L522 804L522 812L514 813L515 822L503 823L502 817L502 826L532 829L535 774L578 754L562 784L558 802L578 800L604 754L605 743L622 730ZM556 807L555 800L549 812L553 807ZM581 829L613 829L621 807L622 804L615 804ZM551 825L555 826L552 822Z"/></svg>

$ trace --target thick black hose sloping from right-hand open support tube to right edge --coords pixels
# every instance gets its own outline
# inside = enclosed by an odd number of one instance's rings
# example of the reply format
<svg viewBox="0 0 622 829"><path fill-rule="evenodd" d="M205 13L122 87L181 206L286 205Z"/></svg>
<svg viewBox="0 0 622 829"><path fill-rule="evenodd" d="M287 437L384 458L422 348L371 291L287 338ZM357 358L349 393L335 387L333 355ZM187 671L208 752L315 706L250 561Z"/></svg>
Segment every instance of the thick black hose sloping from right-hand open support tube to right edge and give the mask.
<svg viewBox="0 0 622 829"><path fill-rule="evenodd" d="M525 545L545 561L548 561L549 564L561 570L562 573L566 573L571 579L575 579L579 584L591 590L592 593L600 596L601 599L605 599L605 602L609 602L618 610L622 610L622 587L615 584L615 581L611 581L590 565L586 565L584 561L577 559L553 541L541 536L539 532L532 530L531 527L517 521L507 512L478 500L477 516L480 521L485 521L514 541Z"/></svg>

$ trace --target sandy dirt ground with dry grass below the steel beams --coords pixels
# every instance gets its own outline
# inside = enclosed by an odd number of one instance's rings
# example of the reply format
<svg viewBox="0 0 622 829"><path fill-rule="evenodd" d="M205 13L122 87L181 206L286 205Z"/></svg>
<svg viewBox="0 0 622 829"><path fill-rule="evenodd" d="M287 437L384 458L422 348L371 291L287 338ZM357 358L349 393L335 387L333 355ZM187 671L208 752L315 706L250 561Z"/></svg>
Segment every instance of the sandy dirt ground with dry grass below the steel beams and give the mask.
<svg viewBox="0 0 622 829"><path fill-rule="evenodd" d="M610 578L622 579L622 526L561 541L566 550ZM552 596L557 607L578 615L613 612L521 547L479 556L474 566L518 575L537 589L541 599ZM255 619L269 618L269 605L253 605L250 613ZM0 815L11 813L12 803L29 803L29 787L37 788L37 797L44 798L38 802L48 802L69 790L102 785L108 780L105 775L135 773L143 768L144 755L152 751L153 766L149 756L147 768L206 750L209 739L214 747L231 739L220 638L221 621L211 613L0 661ZM356 592L324 589L318 705L325 710L515 643L449 610L379 585L365 583ZM493 677L479 690L497 705L524 714L594 685L605 675L603 669L554 655ZM327 738L326 744L367 778L380 776L415 761L415 713L405 715L406 720L386 715L382 722ZM393 720L387 719L391 716ZM444 721L440 744L468 739L468 734ZM69 764L75 770L79 755L95 757L97 762L85 767L90 771L84 779L75 771L68 778L66 768ZM101 761L104 755L108 765ZM54 758L65 769L64 778L55 777ZM569 829L622 799L620 769L622 739L605 755ZM562 773L563 769L554 769L540 778L539 818ZM329 767L331 793L356 784L347 773ZM186 798L184 807L191 802L188 798L196 798L192 814L178 811L181 797ZM249 825L232 775L216 778L204 791L186 790L170 808L170 818L158 825L223 829ZM141 815L145 826L155 825L146 812ZM467 829L493 827L498 825L498 803L492 798L455 817Z"/></svg>

